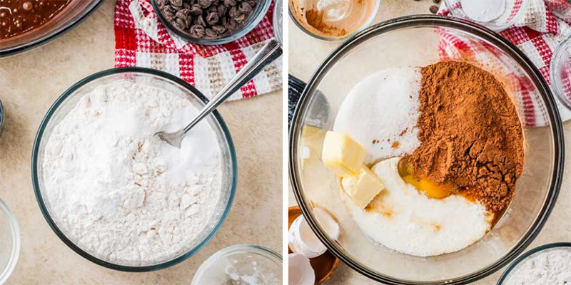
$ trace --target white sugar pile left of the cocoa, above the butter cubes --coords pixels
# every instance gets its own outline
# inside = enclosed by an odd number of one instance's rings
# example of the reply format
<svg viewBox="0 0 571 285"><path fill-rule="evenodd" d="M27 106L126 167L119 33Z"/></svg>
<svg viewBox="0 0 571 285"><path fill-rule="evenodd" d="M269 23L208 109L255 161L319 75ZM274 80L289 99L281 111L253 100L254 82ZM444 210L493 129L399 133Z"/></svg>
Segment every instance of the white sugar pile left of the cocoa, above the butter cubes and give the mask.
<svg viewBox="0 0 571 285"><path fill-rule="evenodd" d="M413 152L420 145L415 127L420 79L420 68L412 67L387 68L364 78L341 103L333 130L365 147L366 164Z"/></svg>

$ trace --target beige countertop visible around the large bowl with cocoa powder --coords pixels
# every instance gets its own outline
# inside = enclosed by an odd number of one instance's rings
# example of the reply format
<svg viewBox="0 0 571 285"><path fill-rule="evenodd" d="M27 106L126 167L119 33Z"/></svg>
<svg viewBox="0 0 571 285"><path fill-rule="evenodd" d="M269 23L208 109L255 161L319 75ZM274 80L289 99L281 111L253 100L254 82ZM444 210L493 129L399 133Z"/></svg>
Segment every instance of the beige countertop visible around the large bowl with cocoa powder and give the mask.
<svg viewBox="0 0 571 285"><path fill-rule="evenodd" d="M382 0L380 10L373 21L373 24L387 19L395 18L398 16L406 16L410 14L429 14L428 8L433 5L432 0ZM289 43L295 43L295 46L290 45L289 50L289 73L304 81L307 81L315 68L318 67L321 61L327 56L340 42L320 41L316 38L308 36L303 33L293 21L288 18L289 28ZM537 236L534 242L527 247L532 249L541 244L551 242L570 242L571 241L571 177L569 175L569 165L571 163L571 149L570 135L571 135L571 122L563 125L565 131L565 138L567 138L567 155L565 157L566 170L563 177L561 192L555 209L553 210L550 218L547 220L542 232ZM295 197L291 188L288 195L288 204L295 205ZM492 285L496 284L500 274L505 270L500 271L488 276L485 279L475 282L478 285ZM337 271L333 274L332 278L327 284L377 284L375 281L361 276L356 271L353 271L345 264L340 264Z"/></svg>

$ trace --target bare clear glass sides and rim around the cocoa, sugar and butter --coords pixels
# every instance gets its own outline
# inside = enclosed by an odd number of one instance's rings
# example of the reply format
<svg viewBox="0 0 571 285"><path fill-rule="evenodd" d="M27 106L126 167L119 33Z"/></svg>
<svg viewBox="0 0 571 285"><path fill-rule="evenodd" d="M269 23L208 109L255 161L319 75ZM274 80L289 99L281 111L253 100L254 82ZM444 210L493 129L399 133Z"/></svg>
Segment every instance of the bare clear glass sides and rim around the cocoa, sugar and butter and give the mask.
<svg viewBox="0 0 571 285"><path fill-rule="evenodd" d="M466 42L477 52L456 49ZM339 182L323 165L321 147L325 131L333 129L340 104L356 83L383 68L427 66L443 55L492 73L510 96L514 90L525 91L523 100L512 98L522 120L525 164L514 199L482 239L458 252L415 257L391 251L363 234L340 201ZM538 112L530 111L530 105ZM560 190L563 157L555 99L531 61L487 28L440 16L385 21L343 43L308 81L290 128L290 182L310 227L345 264L385 284L468 284L508 264L545 224ZM327 209L338 220L338 239L325 231L313 207Z"/></svg>

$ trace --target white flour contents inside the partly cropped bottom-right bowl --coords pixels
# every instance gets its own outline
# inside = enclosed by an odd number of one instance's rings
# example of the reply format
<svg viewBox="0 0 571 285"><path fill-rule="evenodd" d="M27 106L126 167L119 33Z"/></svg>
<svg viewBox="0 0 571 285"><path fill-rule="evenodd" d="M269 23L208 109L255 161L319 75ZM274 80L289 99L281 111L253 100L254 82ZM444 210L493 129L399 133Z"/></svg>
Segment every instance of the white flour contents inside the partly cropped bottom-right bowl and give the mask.
<svg viewBox="0 0 571 285"><path fill-rule="evenodd" d="M506 285L571 284L571 249L547 249L517 265Z"/></svg>

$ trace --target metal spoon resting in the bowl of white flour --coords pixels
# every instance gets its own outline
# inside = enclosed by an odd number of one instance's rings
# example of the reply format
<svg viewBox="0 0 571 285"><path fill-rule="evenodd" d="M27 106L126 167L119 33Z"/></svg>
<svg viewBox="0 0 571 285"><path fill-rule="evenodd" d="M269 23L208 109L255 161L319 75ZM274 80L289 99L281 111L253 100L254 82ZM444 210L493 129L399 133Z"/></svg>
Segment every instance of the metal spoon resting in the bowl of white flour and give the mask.
<svg viewBox="0 0 571 285"><path fill-rule="evenodd" d="M191 120L191 123L188 123L186 127L181 130L177 130L174 133L158 132L155 135L158 135L158 138L161 138L161 140L167 142L169 145L180 148L183 136L188 133L188 130L191 130L191 128L205 118L206 115L216 109L216 107L230 97L230 95L248 83L248 81L250 81L254 76L258 75L258 73L260 73L260 71L262 71L268 64L281 56L281 53L281 43L278 43L276 40L268 41L268 43L266 43L266 45L256 53L256 56L246 63L246 66L238 71L236 76L234 76L230 82L228 82L226 86L224 86L222 90L220 90L220 92L218 92L218 94L216 94L216 96L214 96L214 98L212 98L212 100L202 108L198 115Z"/></svg>

